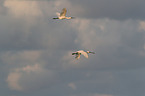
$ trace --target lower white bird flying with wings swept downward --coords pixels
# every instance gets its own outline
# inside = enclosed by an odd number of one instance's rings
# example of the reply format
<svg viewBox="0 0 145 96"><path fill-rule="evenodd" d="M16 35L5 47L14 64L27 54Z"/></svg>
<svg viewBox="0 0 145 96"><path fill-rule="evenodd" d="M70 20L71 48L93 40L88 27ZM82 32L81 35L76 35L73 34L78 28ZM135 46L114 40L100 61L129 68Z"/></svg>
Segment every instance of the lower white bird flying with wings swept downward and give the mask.
<svg viewBox="0 0 145 96"><path fill-rule="evenodd" d="M83 50L79 50L79 51L73 52L72 55L76 55L75 58L78 60L80 58L81 54L84 55L86 58L88 58L89 53L95 54L95 52L91 52L91 51L85 52Z"/></svg>

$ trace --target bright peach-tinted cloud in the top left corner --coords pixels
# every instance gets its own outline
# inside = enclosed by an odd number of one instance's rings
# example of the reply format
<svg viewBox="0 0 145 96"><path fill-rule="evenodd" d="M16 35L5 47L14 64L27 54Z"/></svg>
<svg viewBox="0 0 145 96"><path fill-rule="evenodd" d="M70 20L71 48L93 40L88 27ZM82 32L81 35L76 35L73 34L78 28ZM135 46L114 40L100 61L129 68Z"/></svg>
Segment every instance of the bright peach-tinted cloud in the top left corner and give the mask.
<svg viewBox="0 0 145 96"><path fill-rule="evenodd" d="M41 16L42 12L36 1L6 0L4 6L8 8L10 14L16 17Z"/></svg>

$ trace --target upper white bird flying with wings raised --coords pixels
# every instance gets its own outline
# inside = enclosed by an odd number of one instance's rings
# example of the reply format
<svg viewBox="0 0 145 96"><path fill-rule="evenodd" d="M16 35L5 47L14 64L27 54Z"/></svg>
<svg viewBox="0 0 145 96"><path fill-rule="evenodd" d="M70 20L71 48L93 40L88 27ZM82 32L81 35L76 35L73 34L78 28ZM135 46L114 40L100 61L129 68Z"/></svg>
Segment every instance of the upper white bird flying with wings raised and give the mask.
<svg viewBox="0 0 145 96"><path fill-rule="evenodd" d="M67 12L67 10L66 10L66 8L63 8L62 9L62 11L61 11L61 13L56 13L56 15L57 15L57 18L53 18L53 19L73 19L74 17L66 17L66 12Z"/></svg>

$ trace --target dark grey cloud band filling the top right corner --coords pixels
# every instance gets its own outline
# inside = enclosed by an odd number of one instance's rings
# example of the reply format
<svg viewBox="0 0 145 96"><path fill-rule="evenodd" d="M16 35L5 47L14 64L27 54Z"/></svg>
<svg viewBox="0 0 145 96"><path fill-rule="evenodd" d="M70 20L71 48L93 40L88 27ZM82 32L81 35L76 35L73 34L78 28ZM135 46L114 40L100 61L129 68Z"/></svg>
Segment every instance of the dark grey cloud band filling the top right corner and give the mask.
<svg viewBox="0 0 145 96"><path fill-rule="evenodd" d="M83 18L145 19L144 0L83 0L83 2L70 0L70 2L83 8L84 11L78 14Z"/></svg>

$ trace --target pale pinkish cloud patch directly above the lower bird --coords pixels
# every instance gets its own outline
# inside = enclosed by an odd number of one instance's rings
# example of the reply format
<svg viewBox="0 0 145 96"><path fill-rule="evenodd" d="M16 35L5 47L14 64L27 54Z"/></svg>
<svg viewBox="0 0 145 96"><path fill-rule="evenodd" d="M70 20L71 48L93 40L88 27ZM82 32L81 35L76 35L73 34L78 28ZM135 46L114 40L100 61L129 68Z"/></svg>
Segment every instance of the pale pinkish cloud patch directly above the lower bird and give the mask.
<svg viewBox="0 0 145 96"><path fill-rule="evenodd" d="M72 26L78 31L75 43L81 45L83 49L94 50L96 48L96 44L101 43L97 33L103 32L105 27L103 25L99 25L96 20L93 22L93 20L89 19L77 19L73 22Z"/></svg>

